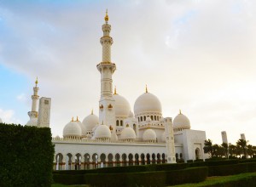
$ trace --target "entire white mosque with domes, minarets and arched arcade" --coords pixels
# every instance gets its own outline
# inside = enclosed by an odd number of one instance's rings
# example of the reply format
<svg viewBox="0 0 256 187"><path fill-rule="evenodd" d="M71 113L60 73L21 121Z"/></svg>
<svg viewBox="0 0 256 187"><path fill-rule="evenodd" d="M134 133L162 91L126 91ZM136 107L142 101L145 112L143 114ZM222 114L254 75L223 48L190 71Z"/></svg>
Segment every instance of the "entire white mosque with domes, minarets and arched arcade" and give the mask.
<svg viewBox="0 0 256 187"><path fill-rule="evenodd" d="M63 136L52 139L54 169L176 163L207 158L203 151L206 132L190 129L189 118L182 111L173 121L172 117L162 116L160 100L149 93L147 87L131 111L125 97L113 89L116 65L111 61L113 38L110 37L108 12L102 31L102 62L96 65L101 73L99 116L91 111L82 122L72 119L63 127ZM28 112L30 120L26 125L49 127L51 100L41 98L38 107L38 80L35 83L32 111Z"/></svg>

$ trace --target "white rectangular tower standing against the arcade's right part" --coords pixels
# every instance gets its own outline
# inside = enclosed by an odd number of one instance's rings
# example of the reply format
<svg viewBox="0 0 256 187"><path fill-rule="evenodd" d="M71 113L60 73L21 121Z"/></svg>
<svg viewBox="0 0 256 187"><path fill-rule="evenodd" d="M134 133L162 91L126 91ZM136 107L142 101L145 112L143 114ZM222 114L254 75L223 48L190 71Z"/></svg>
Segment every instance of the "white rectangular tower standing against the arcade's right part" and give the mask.
<svg viewBox="0 0 256 187"><path fill-rule="evenodd" d="M166 117L166 154L167 163L176 163L175 159L175 144L173 136L172 118Z"/></svg>

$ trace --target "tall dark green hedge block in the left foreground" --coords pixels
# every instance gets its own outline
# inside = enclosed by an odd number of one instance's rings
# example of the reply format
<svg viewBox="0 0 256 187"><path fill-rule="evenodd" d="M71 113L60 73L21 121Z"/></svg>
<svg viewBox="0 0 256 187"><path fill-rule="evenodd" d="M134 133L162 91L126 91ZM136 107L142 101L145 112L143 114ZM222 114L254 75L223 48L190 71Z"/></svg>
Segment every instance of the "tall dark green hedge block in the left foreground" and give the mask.
<svg viewBox="0 0 256 187"><path fill-rule="evenodd" d="M0 124L0 186L50 186L54 145L48 127Z"/></svg>

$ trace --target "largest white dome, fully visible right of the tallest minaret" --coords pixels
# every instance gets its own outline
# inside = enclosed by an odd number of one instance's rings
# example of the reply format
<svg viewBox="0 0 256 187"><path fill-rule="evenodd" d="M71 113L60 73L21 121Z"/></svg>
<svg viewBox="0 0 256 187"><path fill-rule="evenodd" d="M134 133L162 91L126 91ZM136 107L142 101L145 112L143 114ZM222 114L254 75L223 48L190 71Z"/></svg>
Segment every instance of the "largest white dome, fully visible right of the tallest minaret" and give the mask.
<svg viewBox="0 0 256 187"><path fill-rule="evenodd" d="M162 106L160 100L150 93L144 93L137 98L134 104L134 114L135 116L140 115L141 113L147 112L162 112Z"/></svg>

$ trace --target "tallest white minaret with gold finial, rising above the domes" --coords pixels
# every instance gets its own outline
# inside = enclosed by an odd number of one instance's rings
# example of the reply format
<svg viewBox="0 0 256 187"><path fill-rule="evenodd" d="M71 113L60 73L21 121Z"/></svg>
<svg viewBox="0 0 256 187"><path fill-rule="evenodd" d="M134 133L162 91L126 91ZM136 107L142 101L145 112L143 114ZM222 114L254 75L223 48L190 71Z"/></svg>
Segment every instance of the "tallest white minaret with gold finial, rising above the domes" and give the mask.
<svg viewBox="0 0 256 187"><path fill-rule="evenodd" d="M98 71L101 72L101 99L99 101L99 122L112 127L115 135L115 112L113 99L112 75L115 71L115 64L111 62L111 45L112 37L109 36L111 26L108 24L108 10L106 11L105 24L102 25L103 37L102 43L102 62L97 65ZM115 136L114 136L115 137Z"/></svg>

